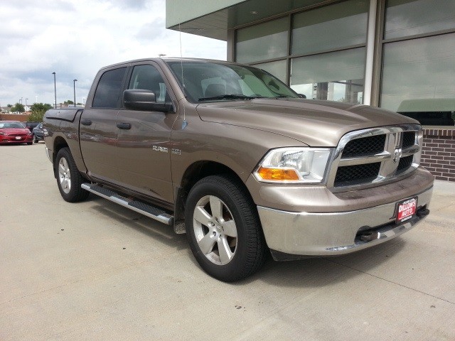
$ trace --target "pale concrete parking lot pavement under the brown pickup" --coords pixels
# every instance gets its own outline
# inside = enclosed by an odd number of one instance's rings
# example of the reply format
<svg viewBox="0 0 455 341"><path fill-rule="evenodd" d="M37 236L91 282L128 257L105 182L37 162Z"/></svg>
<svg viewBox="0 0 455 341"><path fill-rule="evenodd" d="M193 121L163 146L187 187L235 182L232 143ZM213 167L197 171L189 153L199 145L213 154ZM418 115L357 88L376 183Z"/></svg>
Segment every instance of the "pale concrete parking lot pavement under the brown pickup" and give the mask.
<svg viewBox="0 0 455 341"><path fill-rule="evenodd" d="M184 235L58 192L44 144L0 146L0 340L455 340L455 183L355 254L222 283Z"/></svg>

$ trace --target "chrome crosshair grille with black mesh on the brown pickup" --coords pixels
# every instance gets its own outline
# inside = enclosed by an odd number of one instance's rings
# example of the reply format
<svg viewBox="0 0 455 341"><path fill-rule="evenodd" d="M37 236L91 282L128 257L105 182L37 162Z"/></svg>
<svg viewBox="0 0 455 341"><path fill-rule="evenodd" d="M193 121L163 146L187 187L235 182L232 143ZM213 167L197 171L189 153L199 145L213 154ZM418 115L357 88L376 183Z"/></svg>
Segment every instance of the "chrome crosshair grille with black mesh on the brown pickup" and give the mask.
<svg viewBox="0 0 455 341"><path fill-rule="evenodd" d="M410 175L420 162L420 130L410 124L346 134L336 148L328 188L368 188Z"/></svg>

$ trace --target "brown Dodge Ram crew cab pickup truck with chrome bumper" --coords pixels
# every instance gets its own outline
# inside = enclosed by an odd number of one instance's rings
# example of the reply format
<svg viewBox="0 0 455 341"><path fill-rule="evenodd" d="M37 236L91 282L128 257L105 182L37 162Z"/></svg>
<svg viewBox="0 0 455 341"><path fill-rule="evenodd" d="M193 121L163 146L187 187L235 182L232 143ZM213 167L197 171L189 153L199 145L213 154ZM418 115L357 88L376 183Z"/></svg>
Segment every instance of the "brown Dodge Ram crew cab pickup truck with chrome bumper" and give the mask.
<svg viewBox="0 0 455 341"><path fill-rule="evenodd" d="M275 260L347 254L429 214L422 127L363 104L304 99L268 72L156 58L102 68L85 108L45 113L63 199L89 193L186 233L221 281Z"/></svg>

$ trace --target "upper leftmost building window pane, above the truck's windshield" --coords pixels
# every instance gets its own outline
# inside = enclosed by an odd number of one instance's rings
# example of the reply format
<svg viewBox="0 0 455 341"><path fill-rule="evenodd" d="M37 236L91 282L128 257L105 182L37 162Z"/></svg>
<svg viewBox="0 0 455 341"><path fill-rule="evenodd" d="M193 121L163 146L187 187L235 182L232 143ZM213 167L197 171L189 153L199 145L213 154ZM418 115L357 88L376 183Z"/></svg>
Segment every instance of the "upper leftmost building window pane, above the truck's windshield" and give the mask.
<svg viewBox="0 0 455 341"><path fill-rule="evenodd" d="M288 18L237 30L236 61L252 63L287 55Z"/></svg>

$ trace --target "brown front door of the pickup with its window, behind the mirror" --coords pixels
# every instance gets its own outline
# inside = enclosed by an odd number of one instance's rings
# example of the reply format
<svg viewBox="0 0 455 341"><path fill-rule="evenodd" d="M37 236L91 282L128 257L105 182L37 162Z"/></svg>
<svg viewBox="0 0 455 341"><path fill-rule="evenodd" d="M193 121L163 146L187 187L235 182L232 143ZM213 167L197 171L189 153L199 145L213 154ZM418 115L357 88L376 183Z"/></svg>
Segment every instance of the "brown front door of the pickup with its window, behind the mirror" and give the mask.
<svg viewBox="0 0 455 341"><path fill-rule="evenodd" d="M151 90L156 102L171 102L168 83L153 62L133 65L128 89ZM171 128L175 113L120 109L117 115L117 168L123 185L173 202Z"/></svg>

